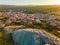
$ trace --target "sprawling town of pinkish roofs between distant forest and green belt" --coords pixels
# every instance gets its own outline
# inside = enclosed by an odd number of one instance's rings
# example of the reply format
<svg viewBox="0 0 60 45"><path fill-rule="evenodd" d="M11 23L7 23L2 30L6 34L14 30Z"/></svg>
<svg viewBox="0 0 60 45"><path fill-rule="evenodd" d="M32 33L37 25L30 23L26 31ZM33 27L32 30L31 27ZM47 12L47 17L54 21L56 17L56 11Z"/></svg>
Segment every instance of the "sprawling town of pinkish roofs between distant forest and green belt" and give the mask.
<svg viewBox="0 0 60 45"><path fill-rule="evenodd" d="M0 12L0 28L15 22L27 23L49 23L52 26L60 26L60 16L55 14L26 14L21 12ZM18 24L19 25L19 24Z"/></svg>

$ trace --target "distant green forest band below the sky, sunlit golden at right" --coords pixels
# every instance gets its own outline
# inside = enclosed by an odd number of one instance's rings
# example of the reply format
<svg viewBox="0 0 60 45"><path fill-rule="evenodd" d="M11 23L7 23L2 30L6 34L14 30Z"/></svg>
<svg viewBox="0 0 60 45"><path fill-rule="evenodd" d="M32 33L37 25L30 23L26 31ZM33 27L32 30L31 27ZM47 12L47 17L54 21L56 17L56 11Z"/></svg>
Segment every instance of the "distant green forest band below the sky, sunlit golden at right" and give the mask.
<svg viewBox="0 0 60 45"><path fill-rule="evenodd" d="M54 11L59 11L60 6L8 6L1 5L0 12L8 12L13 10L12 12L24 12L24 13L49 13Z"/></svg>

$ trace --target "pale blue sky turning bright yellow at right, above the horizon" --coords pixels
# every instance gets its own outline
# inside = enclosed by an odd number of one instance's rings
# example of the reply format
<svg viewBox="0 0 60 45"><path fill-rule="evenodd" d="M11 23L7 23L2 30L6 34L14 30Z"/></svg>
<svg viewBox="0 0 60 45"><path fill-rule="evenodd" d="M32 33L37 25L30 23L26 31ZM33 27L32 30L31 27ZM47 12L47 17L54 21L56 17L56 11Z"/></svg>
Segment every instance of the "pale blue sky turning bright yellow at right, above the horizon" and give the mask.
<svg viewBox="0 0 60 45"><path fill-rule="evenodd" d="M0 0L0 5L60 5L60 0Z"/></svg>

